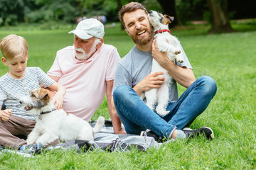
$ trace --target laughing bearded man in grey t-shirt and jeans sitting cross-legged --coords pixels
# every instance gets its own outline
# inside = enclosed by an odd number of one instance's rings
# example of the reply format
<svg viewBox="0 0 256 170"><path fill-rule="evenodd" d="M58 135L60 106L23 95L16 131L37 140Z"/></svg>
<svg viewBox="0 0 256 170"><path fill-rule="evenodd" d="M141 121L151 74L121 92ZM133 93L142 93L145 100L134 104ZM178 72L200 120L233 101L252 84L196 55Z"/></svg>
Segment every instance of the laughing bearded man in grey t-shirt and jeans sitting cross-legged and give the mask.
<svg viewBox="0 0 256 170"><path fill-rule="evenodd" d="M156 41L153 42L154 30L142 4L131 2L123 6L119 11L119 18L136 44L117 64L114 77L112 106L122 120L126 132L156 139L176 140L203 134L212 139L214 135L210 128L184 128L203 113L210 103L216 92L215 81L210 77L195 79L183 50L183 63L171 62L165 52L159 52ZM150 74L152 57L174 78L169 86L169 103L166 108L169 113L164 116L151 111L139 98L142 92L159 88L164 83L163 72ZM176 82L187 88L180 98Z"/></svg>

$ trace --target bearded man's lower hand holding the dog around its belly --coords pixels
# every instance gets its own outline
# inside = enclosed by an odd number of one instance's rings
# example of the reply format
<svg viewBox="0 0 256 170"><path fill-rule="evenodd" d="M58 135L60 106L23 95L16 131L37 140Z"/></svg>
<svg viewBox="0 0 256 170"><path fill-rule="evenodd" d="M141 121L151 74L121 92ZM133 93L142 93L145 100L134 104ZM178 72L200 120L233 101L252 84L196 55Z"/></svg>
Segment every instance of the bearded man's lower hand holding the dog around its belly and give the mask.
<svg viewBox="0 0 256 170"><path fill-rule="evenodd" d="M134 91L141 96L142 92L149 91L154 88L159 88L164 83L164 72L155 72L153 74L147 75L142 81L140 81L136 86L134 86Z"/></svg>

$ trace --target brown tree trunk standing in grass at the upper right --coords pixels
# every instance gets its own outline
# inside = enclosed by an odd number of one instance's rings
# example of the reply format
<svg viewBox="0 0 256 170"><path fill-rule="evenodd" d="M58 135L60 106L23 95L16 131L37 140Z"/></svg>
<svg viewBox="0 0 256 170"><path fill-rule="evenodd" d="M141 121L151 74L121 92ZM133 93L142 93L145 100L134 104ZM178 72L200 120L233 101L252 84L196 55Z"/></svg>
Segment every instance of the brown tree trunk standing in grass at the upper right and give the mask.
<svg viewBox="0 0 256 170"><path fill-rule="evenodd" d="M210 33L229 33L233 29L228 17L228 0L207 0L212 15Z"/></svg>

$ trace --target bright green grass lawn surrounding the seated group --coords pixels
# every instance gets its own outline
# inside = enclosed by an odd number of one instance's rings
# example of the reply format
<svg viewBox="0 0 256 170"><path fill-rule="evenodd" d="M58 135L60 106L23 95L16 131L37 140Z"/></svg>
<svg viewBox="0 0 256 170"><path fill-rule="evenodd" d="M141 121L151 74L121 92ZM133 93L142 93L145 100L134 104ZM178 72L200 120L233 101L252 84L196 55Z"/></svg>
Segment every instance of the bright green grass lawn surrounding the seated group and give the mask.
<svg viewBox="0 0 256 170"><path fill-rule="evenodd" d="M199 137L146 152L55 151L31 158L6 153L0 154L0 169L256 169L256 31L254 28L245 32L250 27L245 25L233 27L239 31L218 35L207 35L209 26L172 30L181 41L196 78L208 75L217 82L213 101L191 125L191 128L213 128L214 140ZM69 30L1 28L0 38L10 33L24 36L29 47L28 66L41 67L47 72L56 51L73 45ZM106 28L105 32L105 43L117 47L121 57L134 46L118 26ZM1 64L0 75L6 71ZM179 94L184 90L178 86ZM93 119L99 115L110 118L107 111L105 98Z"/></svg>

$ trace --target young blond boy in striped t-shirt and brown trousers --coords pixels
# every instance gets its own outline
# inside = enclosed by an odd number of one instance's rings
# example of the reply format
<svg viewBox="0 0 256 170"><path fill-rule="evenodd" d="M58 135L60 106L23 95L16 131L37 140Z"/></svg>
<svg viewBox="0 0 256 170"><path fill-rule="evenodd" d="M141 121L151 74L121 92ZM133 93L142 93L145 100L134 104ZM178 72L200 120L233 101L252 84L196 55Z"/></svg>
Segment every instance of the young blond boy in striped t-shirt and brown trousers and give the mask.
<svg viewBox="0 0 256 170"><path fill-rule="evenodd" d="M65 88L57 84L38 67L26 67L28 44L18 35L8 35L0 42L1 58L9 72L0 77L0 145L12 149L40 149L41 145L26 145L26 140L16 136L28 136L36 124L36 116L28 115L19 103L19 98L28 96L29 91L48 87L56 91L53 97L56 109L62 108Z"/></svg>

